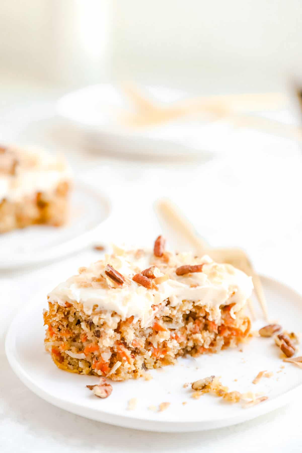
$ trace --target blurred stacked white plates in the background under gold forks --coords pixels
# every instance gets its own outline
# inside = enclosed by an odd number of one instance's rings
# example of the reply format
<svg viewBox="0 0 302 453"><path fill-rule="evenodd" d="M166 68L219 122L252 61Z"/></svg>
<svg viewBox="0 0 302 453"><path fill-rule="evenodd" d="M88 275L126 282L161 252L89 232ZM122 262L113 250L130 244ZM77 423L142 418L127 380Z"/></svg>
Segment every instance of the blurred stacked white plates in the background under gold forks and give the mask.
<svg viewBox="0 0 302 453"><path fill-rule="evenodd" d="M173 102L187 93L166 87L144 87L151 99ZM92 85L63 96L58 114L87 133L89 144L99 152L139 154L142 156L199 157L208 160L213 152L203 148L203 129L207 124L185 116L159 125L131 128L119 120L122 111L131 111L118 86Z"/></svg>

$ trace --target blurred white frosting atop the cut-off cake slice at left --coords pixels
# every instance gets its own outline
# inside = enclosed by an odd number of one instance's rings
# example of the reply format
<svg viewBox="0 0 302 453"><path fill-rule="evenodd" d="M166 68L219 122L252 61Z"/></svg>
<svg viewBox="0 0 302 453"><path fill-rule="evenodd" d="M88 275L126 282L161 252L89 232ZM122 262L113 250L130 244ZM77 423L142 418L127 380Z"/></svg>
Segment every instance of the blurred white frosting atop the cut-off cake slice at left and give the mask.
<svg viewBox="0 0 302 453"><path fill-rule="evenodd" d="M10 171L14 162L14 171ZM34 148L10 147L0 152L0 201L16 201L37 192L47 192L70 179L71 169L62 156Z"/></svg>

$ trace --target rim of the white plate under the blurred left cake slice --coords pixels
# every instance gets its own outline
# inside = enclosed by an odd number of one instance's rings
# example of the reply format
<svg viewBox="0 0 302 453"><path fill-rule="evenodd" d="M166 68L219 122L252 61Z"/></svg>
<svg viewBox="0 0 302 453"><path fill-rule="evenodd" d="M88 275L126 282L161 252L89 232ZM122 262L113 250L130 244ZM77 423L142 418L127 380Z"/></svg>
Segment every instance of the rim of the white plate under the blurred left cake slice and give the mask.
<svg viewBox="0 0 302 453"><path fill-rule="evenodd" d="M0 269L9 270L18 267L26 267L62 258L74 252L82 250L96 240L97 233L99 232L100 228L105 228L110 220L110 214L112 212L112 201L105 193L96 190L87 183L77 181L75 185L78 189L85 191L88 195L89 193L93 193L94 197L97 197L102 201L106 211L105 219L99 224L92 226L85 232L79 234L78 236L73 237L72 239L62 242L58 245L52 246L48 249L47 253L41 252L35 253L33 255L27 254L26 257L12 257L11 259L5 259L5 262L0 261Z"/></svg>

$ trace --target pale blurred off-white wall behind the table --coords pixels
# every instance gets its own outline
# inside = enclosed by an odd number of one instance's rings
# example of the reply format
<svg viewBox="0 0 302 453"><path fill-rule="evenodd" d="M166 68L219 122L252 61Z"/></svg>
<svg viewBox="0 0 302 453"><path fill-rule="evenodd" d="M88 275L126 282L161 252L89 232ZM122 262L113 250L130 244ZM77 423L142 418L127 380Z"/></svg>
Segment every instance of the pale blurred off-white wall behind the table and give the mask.
<svg viewBox="0 0 302 453"><path fill-rule="evenodd" d="M10 0L0 70L49 83L106 78L274 91L301 79L300 0Z"/></svg>

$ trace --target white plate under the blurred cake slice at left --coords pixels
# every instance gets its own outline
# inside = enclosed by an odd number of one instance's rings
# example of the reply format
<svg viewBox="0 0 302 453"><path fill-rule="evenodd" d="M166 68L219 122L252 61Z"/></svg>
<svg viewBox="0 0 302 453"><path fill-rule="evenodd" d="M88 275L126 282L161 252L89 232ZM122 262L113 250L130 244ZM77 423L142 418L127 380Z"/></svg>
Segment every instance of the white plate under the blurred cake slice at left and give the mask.
<svg viewBox="0 0 302 453"><path fill-rule="evenodd" d="M100 238L111 203L89 185L77 183L65 226L34 225L0 235L0 269L12 269L62 258Z"/></svg>

